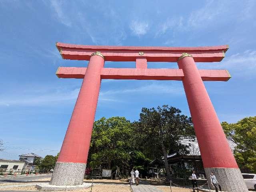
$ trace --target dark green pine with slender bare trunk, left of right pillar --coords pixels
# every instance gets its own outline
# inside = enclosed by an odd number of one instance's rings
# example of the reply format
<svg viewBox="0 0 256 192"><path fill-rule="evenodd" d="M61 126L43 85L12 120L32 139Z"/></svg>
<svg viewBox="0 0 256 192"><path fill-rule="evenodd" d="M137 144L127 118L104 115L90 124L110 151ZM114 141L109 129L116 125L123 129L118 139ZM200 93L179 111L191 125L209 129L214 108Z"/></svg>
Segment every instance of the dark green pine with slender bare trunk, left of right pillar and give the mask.
<svg viewBox="0 0 256 192"><path fill-rule="evenodd" d="M167 155L186 147L178 141L181 135L194 135L191 118L181 115L180 109L163 105L157 109L142 108L140 119L135 122L137 145L143 146L151 158L164 156L167 177L170 179L170 168Z"/></svg>

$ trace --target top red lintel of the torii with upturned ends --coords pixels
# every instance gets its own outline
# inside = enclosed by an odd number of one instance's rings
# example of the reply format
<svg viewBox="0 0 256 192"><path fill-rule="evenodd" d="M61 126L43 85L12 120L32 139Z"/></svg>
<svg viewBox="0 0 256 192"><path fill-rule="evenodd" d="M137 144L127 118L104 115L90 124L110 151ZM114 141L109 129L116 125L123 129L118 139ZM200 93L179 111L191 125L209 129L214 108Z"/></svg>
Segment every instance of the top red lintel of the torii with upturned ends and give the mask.
<svg viewBox="0 0 256 192"><path fill-rule="evenodd" d="M136 61L139 57L148 62L177 62L183 52L193 56L195 62L218 62L225 57L228 45L206 47L134 47L88 46L57 42L63 59L90 60L92 53L100 51L105 61Z"/></svg>

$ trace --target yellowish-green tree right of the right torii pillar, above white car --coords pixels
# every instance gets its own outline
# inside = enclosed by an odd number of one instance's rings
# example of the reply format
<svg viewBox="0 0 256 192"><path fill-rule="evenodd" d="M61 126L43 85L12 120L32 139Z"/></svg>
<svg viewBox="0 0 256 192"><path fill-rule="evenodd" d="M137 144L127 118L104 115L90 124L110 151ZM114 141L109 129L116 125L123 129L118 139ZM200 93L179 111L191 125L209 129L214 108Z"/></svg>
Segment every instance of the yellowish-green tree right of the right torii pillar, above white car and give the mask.
<svg viewBox="0 0 256 192"><path fill-rule="evenodd" d="M239 168L256 173L256 116L246 117L237 123L221 123L225 134L237 144L234 157Z"/></svg>

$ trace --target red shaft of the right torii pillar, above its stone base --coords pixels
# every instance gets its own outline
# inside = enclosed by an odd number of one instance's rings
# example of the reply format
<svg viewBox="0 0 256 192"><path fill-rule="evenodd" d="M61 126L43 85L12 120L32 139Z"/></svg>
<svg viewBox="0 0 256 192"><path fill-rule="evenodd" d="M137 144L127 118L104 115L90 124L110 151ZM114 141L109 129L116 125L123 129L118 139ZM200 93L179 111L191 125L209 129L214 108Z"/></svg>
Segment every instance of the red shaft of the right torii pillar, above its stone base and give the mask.
<svg viewBox="0 0 256 192"><path fill-rule="evenodd" d="M238 168L193 57L180 59L178 66L204 168Z"/></svg>

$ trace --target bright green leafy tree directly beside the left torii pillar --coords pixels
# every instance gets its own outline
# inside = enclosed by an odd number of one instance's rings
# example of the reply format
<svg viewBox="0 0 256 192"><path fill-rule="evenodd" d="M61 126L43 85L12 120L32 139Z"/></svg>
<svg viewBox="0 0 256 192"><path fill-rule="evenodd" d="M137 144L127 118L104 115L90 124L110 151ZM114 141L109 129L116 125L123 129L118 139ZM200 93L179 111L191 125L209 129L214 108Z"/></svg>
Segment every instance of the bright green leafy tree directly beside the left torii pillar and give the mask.
<svg viewBox="0 0 256 192"><path fill-rule="evenodd" d="M90 143L90 166L107 164L128 166L131 151L132 124L125 117L102 117L94 122Z"/></svg>

